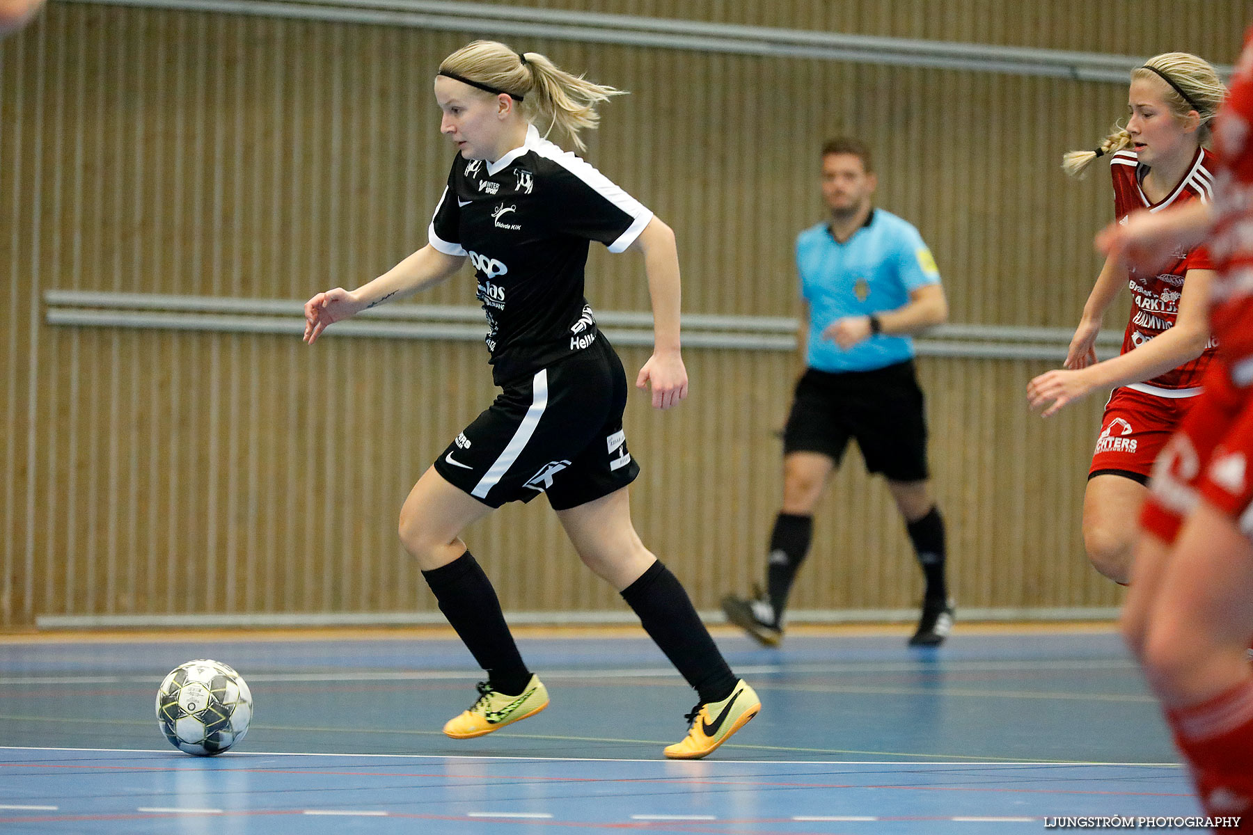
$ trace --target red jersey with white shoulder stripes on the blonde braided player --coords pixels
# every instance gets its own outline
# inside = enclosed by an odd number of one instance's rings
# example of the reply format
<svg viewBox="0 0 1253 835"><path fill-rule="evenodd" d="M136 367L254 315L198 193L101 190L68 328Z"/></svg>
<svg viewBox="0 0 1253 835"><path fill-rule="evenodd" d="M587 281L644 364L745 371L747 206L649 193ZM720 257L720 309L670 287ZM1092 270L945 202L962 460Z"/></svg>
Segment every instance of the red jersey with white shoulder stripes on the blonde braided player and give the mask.
<svg viewBox="0 0 1253 835"><path fill-rule="evenodd" d="M1149 172L1141 165L1135 151L1120 150L1110 160L1110 175L1114 179L1114 213L1123 220L1131 212L1148 209L1159 212L1172 205L1183 205L1188 200L1209 202L1213 189L1214 155L1200 148L1193 159L1188 173L1165 199L1153 203L1144 195L1141 183ZM1139 274L1129 270L1128 284L1131 288L1131 319L1123 334L1123 351L1126 353L1174 327L1179 314L1179 297L1183 294L1183 280L1189 269L1214 269L1213 259L1204 247L1174 253L1174 257L1155 275ZM1129 388L1157 394L1159 397L1190 397L1200 393L1200 378L1214 356L1215 341L1210 339L1204 352L1192 362L1173 368L1159 377L1143 383L1131 383Z"/></svg>

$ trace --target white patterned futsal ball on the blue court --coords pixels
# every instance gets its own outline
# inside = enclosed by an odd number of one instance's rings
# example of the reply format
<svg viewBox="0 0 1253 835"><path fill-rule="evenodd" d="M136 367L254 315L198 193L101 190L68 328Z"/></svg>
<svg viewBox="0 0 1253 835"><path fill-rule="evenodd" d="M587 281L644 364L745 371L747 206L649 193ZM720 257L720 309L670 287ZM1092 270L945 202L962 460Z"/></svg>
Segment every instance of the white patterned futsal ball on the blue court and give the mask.
<svg viewBox="0 0 1253 835"><path fill-rule="evenodd" d="M221 661L199 658L174 667L157 691L157 725L169 744L197 756L222 754L252 721L252 692Z"/></svg>

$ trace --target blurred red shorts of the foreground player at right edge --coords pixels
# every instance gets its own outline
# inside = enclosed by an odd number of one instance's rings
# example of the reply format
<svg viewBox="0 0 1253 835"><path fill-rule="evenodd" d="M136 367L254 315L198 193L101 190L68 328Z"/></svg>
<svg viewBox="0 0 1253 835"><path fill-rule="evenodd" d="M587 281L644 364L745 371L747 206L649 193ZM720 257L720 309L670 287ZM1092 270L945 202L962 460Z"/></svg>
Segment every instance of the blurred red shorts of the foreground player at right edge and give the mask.
<svg viewBox="0 0 1253 835"><path fill-rule="evenodd" d="M1200 498L1229 515L1253 538L1253 388L1238 388L1224 363L1210 364L1197 398L1153 471L1145 531L1173 542Z"/></svg>

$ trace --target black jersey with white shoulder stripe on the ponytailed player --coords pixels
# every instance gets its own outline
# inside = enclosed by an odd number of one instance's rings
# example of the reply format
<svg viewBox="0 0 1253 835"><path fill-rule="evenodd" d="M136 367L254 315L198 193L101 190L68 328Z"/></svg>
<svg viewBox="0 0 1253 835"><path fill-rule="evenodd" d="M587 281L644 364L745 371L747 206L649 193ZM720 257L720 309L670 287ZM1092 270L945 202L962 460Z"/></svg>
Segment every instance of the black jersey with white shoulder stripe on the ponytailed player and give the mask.
<svg viewBox="0 0 1253 835"><path fill-rule="evenodd" d="M474 264L497 384L599 337L584 298L588 244L623 252L653 213L583 159L540 138L499 160L452 163L429 238Z"/></svg>

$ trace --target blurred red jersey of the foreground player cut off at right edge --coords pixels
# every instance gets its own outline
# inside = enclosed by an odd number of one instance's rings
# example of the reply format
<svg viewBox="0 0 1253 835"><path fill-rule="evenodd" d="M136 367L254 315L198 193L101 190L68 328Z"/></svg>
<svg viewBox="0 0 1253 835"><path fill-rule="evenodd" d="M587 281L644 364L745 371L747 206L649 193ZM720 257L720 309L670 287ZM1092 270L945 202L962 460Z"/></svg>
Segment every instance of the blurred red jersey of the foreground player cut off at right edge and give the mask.
<svg viewBox="0 0 1253 835"><path fill-rule="evenodd" d="M1210 248L1219 273L1210 320L1232 379L1243 388L1253 382L1253 372L1237 371L1240 361L1253 357L1253 28L1214 123L1214 150L1217 223Z"/></svg>

